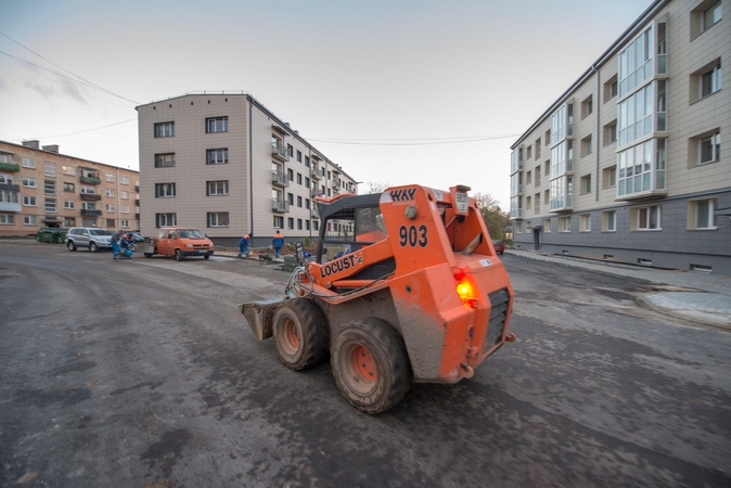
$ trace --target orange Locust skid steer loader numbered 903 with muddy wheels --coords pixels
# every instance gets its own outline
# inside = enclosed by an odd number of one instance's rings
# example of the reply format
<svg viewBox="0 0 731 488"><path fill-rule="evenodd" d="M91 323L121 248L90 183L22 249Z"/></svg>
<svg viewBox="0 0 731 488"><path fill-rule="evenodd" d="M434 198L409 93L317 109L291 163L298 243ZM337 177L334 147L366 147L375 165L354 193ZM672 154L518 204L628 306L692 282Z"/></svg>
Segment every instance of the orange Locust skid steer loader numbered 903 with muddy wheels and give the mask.
<svg viewBox="0 0 731 488"><path fill-rule="evenodd" d="M341 393L367 413L394 407L411 382L471 377L515 336L513 290L467 191L318 198L316 260L305 262L297 243L285 297L239 309L293 370L330 352Z"/></svg>

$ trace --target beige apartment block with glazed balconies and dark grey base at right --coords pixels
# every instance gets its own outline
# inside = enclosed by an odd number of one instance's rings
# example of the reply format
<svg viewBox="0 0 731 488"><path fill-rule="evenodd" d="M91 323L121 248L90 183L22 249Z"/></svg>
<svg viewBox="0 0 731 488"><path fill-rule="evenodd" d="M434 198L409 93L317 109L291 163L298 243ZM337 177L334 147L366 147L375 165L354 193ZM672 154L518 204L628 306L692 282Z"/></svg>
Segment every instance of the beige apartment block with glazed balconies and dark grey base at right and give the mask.
<svg viewBox="0 0 731 488"><path fill-rule="evenodd" d="M730 21L729 0L653 2L533 123L515 246L731 274Z"/></svg>

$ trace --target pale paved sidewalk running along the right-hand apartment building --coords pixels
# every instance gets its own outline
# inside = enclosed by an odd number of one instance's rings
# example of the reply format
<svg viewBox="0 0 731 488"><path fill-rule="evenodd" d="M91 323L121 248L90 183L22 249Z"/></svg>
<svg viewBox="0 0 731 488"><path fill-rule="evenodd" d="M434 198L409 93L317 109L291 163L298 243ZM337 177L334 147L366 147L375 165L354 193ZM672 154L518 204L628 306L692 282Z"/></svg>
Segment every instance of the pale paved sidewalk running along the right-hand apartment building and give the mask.
<svg viewBox="0 0 731 488"><path fill-rule="evenodd" d="M731 277L697 271L642 268L525 249L505 249L505 253L527 259L559 262L591 271L649 281L657 286L649 286L650 293L638 296L637 303L641 307L678 319L731 331Z"/></svg>

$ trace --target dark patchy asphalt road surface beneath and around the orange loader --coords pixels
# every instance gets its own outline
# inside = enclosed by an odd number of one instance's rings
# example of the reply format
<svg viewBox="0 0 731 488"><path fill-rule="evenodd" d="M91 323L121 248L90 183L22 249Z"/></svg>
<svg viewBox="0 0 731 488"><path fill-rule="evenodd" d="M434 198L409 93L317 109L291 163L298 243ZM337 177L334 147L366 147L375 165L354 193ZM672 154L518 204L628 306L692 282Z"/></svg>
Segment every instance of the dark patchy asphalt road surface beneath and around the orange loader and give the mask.
<svg viewBox="0 0 731 488"><path fill-rule="evenodd" d="M503 260L517 341L369 416L239 314L281 271L0 241L0 486L731 486L731 334Z"/></svg>

